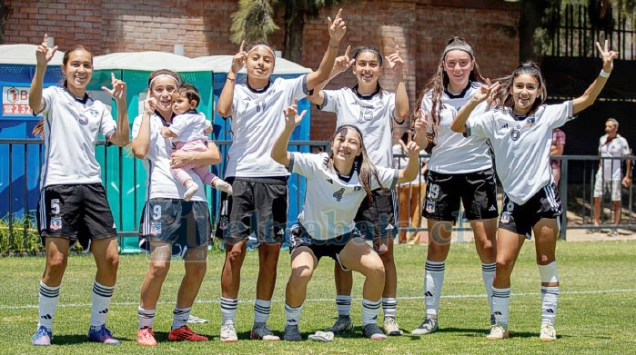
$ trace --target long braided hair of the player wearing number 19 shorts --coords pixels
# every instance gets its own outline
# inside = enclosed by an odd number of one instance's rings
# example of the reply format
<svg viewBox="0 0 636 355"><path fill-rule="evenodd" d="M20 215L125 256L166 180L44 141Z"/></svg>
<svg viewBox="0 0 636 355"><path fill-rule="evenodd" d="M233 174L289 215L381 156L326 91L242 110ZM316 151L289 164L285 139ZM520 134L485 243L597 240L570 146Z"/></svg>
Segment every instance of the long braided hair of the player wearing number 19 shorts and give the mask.
<svg viewBox="0 0 636 355"><path fill-rule="evenodd" d="M455 44L461 43L461 44L464 44L466 47L471 48L469 44L467 44L462 37L456 36L449 39L447 48L453 43ZM452 48L450 50L452 50ZM444 90L446 90L450 81L449 74L447 74L446 70L444 70L444 60L446 59L446 54L448 52L449 50L446 50L446 49L444 50L444 52L442 52L442 55L439 58L439 64L435 74L433 74L433 76L429 79L429 82L424 85L424 88L419 93L418 102L415 104L415 107L418 107L418 108L421 107L422 100L424 99L424 95L426 95L429 92L432 93L431 102L433 105L430 109L430 115L433 121L433 127L432 127L433 138L435 136L436 128L439 124L439 115L441 114L441 106L442 106L441 98L444 94ZM477 59L474 58L472 54L470 54L470 52L467 52L467 53L469 53L470 59L473 61L473 64L474 64L472 67L472 71L470 72L470 75L469 75L469 84L470 82L478 82L478 83L485 84L486 79L483 77L483 75L481 75L480 65L477 64Z"/></svg>

